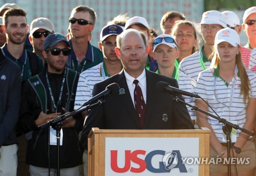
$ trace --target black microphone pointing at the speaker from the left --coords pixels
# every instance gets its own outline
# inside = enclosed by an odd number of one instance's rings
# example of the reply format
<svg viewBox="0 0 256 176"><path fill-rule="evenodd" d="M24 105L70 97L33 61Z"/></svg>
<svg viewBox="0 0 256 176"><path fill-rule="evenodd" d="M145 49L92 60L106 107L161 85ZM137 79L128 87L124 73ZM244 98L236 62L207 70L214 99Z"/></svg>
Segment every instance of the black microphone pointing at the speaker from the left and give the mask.
<svg viewBox="0 0 256 176"><path fill-rule="evenodd" d="M102 92L100 92L99 94L95 95L94 97L90 98L87 102L85 102L82 107L90 105L91 103L93 103L95 100L98 100L99 98L104 98L108 95L112 94L116 94L117 92L119 92L119 85L117 83L112 83L108 86L106 86L106 89Z"/></svg>

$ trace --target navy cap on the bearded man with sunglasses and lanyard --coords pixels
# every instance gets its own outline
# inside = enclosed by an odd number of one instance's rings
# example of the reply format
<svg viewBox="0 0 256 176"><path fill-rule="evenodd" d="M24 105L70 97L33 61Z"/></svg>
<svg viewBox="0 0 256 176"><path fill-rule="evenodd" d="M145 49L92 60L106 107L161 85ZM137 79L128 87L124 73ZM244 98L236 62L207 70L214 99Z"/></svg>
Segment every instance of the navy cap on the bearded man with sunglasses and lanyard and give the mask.
<svg viewBox="0 0 256 176"><path fill-rule="evenodd" d="M47 48L55 46L60 41L66 41L69 47L71 47L68 39L64 35L60 33L55 33L55 34L49 34L46 37L44 41L44 50L46 51Z"/></svg>

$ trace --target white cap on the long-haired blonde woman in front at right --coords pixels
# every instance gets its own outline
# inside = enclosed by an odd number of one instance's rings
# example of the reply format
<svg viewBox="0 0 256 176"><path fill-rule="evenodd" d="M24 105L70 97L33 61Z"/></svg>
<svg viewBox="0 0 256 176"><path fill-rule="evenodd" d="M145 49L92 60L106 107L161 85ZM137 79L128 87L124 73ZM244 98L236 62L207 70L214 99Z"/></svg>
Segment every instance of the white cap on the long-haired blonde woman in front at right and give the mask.
<svg viewBox="0 0 256 176"><path fill-rule="evenodd" d="M232 46L240 45L239 34L230 28L224 28L217 32L214 45L217 46L223 41L230 43Z"/></svg>

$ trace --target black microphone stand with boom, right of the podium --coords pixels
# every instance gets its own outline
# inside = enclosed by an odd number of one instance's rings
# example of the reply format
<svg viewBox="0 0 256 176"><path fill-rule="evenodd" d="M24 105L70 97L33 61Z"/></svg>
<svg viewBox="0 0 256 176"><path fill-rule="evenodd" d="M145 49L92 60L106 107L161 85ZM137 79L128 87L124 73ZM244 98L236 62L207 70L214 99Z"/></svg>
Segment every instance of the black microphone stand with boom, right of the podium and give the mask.
<svg viewBox="0 0 256 176"><path fill-rule="evenodd" d="M202 112L202 113L204 113L204 114L206 114L206 115L208 115L208 116L211 116L211 117L217 119L220 123L223 123L222 130L223 130L223 133L226 135L226 140L227 140L227 157L228 157L228 158L230 158L230 149L231 149L231 145L232 145L232 144L231 144L231 140L230 140L230 133L231 133L231 131L232 131L232 128L234 128L234 129L236 129L236 130L240 130L241 132L244 132L244 133L248 134L249 136L253 136L253 135L254 135L253 132L251 132L251 131L249 131L249 130L246 130L246 129L244 129L244 128L241 128L241 127L239 127L239 125L237 125L237 124L231 123L231 122L227 121L227 120L224 119L224 118L217 117L217 116L215 116L215 115L212 115L212 114L210 114L210 113L208 113L208 112L206 112L206 111L204 111L204 110L198 108L197 106L193 106L193 105L190 105L190 104L184 102L184 101L181 100L178 96L176 96L176 95L174 95L174 94L172 94L172 93L170 93L170 95L172 96L173 100L175 100L176 102L180 102L180 103L182 103L182 104L184 104L184 105L187 105L187 106L191 107L192 110ZM200 97L200 98L201 98L201 97ZM231 175L230 161L228 162L227 165L228 165L228 176L230 176L230 175Z"/></svg>

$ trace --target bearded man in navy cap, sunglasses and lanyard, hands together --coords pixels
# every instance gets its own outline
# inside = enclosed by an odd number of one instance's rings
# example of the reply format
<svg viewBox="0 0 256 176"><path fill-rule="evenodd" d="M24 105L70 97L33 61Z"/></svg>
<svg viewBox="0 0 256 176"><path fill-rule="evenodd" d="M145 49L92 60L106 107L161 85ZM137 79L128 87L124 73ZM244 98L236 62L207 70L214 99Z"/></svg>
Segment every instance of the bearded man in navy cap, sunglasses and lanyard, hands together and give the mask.
<svg viewBox="0 0 256 176"><path fill-rule="evenodd" d="M26 162L31 176L48 175L49 171L50 175L55 175L57 171L56 130L38 127L74 111L79 73L66 66L70 53L71 46L65 36L59 33L48 35L42 52L47 61L44 71L25 84L20 125L27 133ZM82 115L68 117L61 124L60 175L78 176L83 153L78 139L83 125Z"/></svg>

